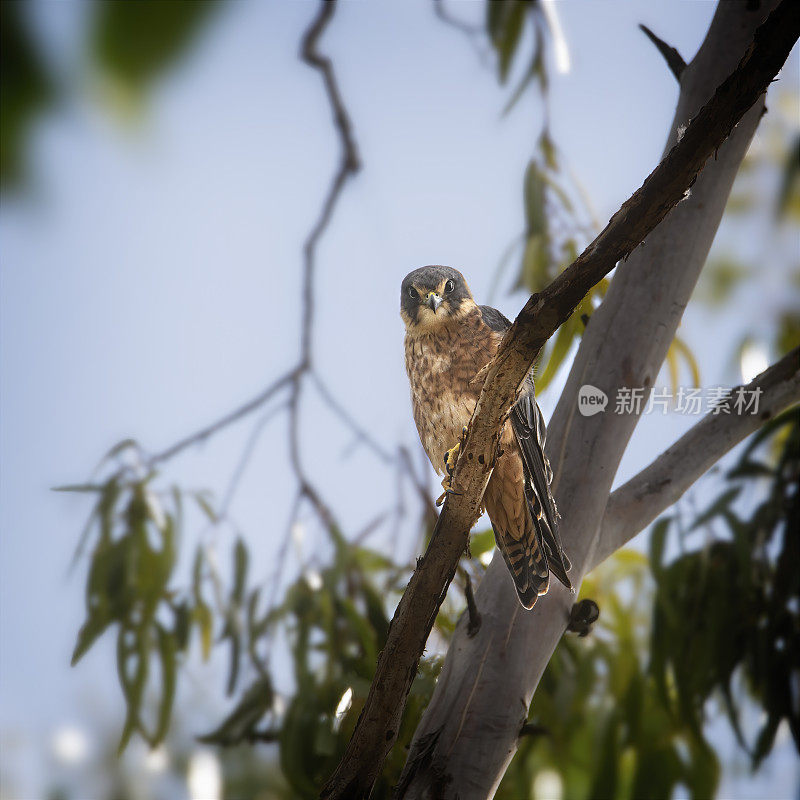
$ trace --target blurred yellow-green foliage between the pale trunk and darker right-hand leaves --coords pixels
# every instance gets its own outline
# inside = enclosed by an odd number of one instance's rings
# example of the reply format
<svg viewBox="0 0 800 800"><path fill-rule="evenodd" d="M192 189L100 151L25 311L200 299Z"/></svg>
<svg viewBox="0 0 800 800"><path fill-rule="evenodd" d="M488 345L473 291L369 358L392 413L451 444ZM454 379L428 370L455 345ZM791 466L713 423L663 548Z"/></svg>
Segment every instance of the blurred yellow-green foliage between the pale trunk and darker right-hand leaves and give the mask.
<svg viewBox="0 0 800 800"><path fill-rule="evenodd" d="M570 800L692 797L714 793L713 750L669 713L647 667L653 582L645 556L623 550L583 583L600 606L588 639L567 635L534 697L517 756L498 798L534 795L536 776L555 773Z"/></svg>

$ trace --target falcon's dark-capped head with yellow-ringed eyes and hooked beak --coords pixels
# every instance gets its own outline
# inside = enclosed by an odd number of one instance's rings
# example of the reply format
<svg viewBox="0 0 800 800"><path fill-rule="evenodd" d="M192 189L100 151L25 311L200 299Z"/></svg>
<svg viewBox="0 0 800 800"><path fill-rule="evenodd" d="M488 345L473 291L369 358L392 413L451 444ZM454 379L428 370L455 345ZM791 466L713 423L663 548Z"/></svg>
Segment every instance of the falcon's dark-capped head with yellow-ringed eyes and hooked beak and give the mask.
<svg viewBox="0 0 800 800"><path fill-rule="evenodd" d="M400 316L409 331L425 331L475 308L464 276L452 267L420 267L403 278Z"/></svg>

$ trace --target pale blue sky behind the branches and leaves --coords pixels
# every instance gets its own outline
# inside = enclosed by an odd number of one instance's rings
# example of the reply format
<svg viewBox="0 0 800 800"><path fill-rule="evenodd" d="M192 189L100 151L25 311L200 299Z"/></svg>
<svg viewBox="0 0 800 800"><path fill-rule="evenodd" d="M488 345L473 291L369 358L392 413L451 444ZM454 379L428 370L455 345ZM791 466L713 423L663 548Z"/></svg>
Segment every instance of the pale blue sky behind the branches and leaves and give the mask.
<svg viewBox="0 0 800 800"><path fill-rule="evenodd" d="M465 17L482 7L451 5ZM602 222L657 163L677 97L637 24L688 58L713 10L699 0L559 3L572 71L552 74L553 135ZM85 6L35 5L37 31L74 101L37 126L30 190L0 211L0 730L22 736L39 767L58 726L88 726L99 714L111 731L122 714L110 642L68 668L83 565L71 578L67 565L87 505L49 487L85 478L122 438L161 449L295 358L300 246L338 153L319 78L296 57L314 12L308 2L225 6L130 127L86 80ZM501 117L508 88L423 0L345 2L321 46L334 59L364 169L319 251L317 364L373 436L416 447L400 280L447 263L486 298L523 225L521 181L541 109L531 92ZM513 317L522 300L497 305ZM742 304L715 318L710 335L706 312L687 315L685 338L709 384L737 379L722 342L753 317ZM543 398L548 416L554 401L555 392ZM324 445L314 478L355 531L390 502L380 498L391 473L364 450L342 462L350 437L321 404L309 402L304 419L309 458L313 442ZM169 479L219 495L254 422L170 465ZM623 472L686 422L638 431ZM276 422L233 507L264 578L292 494L284 455ZM392 543L382 532L373 544ZM410 554L411 543L398 551ZM210 681L209 673L218 685L213 669L198 672ZM25 774L38 791L39 778Z"/></svg>

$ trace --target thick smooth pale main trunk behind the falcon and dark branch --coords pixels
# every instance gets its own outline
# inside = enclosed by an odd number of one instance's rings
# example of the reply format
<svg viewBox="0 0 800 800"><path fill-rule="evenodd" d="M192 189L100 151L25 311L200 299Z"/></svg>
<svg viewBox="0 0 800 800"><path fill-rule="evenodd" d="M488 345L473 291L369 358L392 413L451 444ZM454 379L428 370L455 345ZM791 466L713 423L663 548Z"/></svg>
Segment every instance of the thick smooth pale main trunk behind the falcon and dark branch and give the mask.
<svg viewBox="0 0 800 800"><path fill-rule="evenodd" d="M702 47L681 76L665 153L733 72L755 29L776 5L765 2L755 11L738 0L719 5ZM636 415L609 411L581 416L578 389L591 384L613 402L621 387L652 387L763 109L763 100L750 109L705 166L691 196L618 267L584 334L550 422L547 446L576 585L593 563L611 484L638 421ZM574 595L552 582L533 611L525 612L502 559L495 558L476 601L481 628L470 638L462 619L456 629L398 787L404 798L469 800L494 794L516 752L539 679L566 628Z"/></svg>

